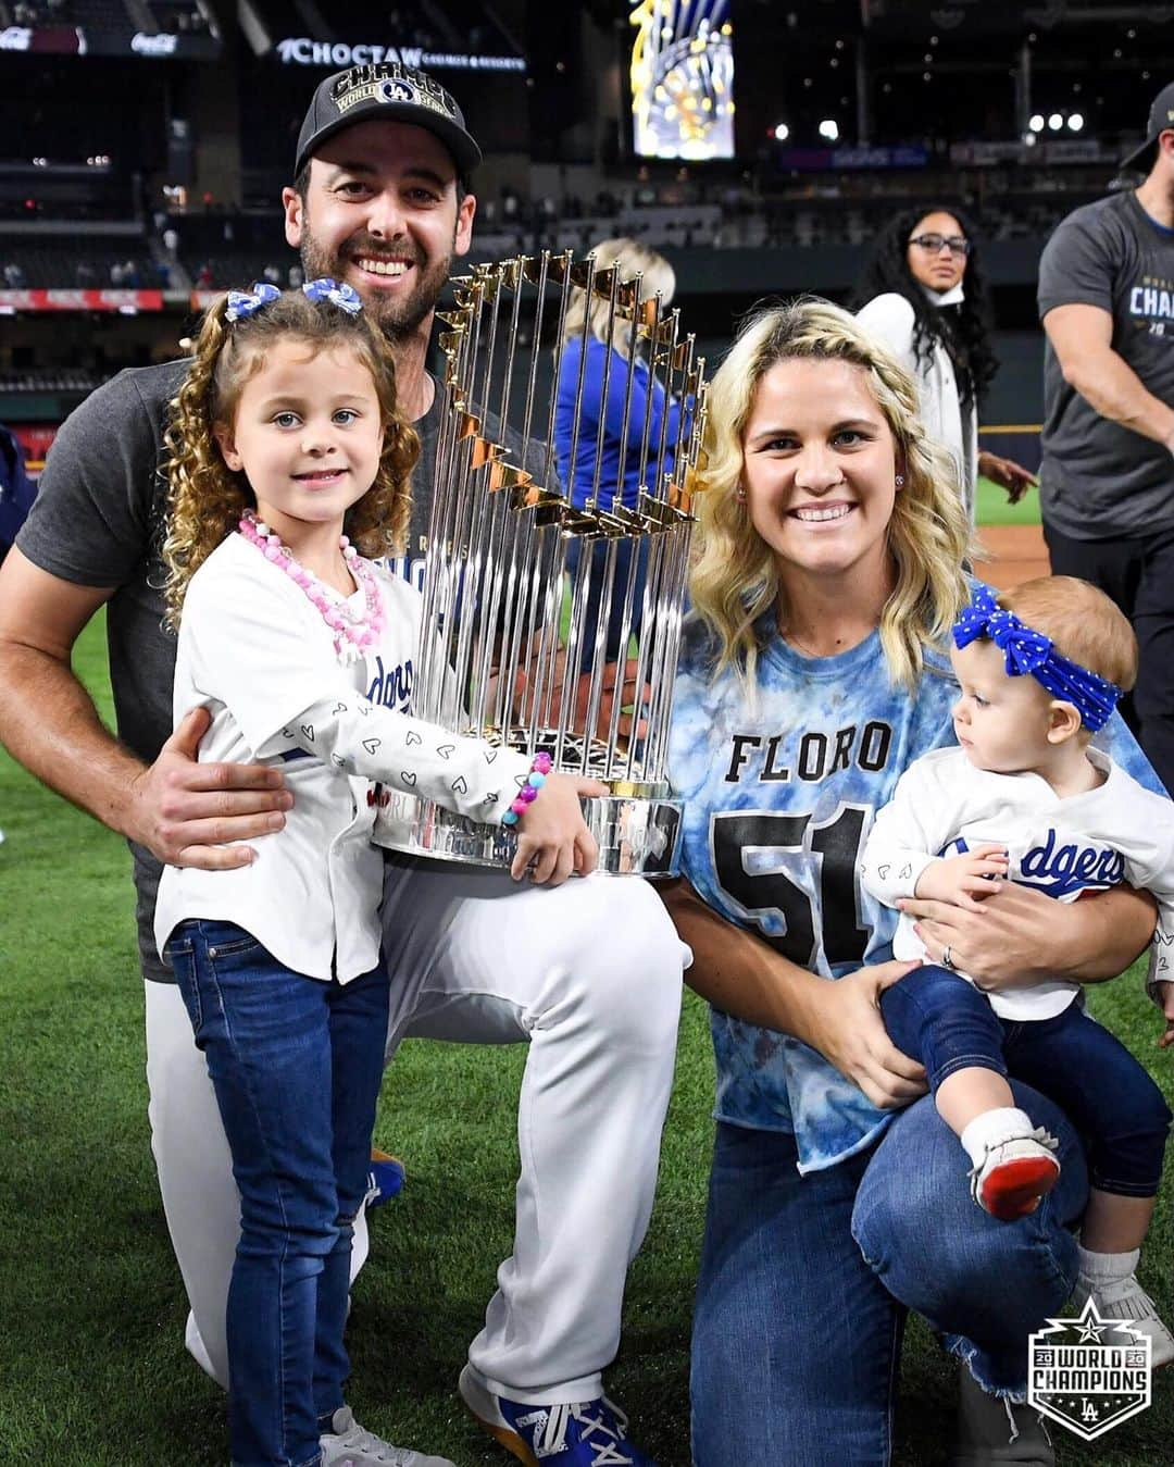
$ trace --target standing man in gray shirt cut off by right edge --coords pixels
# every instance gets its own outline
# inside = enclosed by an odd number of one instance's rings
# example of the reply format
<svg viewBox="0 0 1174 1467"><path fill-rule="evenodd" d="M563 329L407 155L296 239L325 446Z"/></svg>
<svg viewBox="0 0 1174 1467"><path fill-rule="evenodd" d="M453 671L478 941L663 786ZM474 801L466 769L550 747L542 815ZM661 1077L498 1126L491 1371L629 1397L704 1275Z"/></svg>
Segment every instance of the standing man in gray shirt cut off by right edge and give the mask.
<svg viewBox="0 0 1174 1467"><path fill-rule="evenodd" d="M1123 167L1145 169L1142 186L1074 210L1039 263L1039 499L1054 574L1133 622L1123 713L1174 791L1174 84Z"/></svg>

